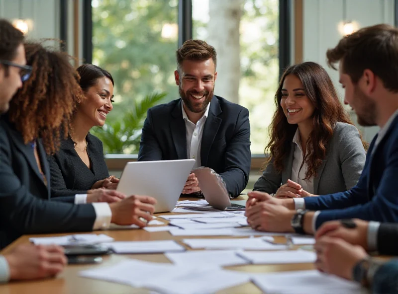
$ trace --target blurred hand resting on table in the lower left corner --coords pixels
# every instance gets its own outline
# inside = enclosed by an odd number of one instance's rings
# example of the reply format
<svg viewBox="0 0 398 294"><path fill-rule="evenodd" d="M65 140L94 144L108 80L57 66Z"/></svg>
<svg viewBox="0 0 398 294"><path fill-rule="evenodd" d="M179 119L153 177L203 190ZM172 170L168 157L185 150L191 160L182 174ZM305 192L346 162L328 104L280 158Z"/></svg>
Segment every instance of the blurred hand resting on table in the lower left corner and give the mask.
<svg viewBox="0 0 398 294"><path fill-rule="evenodd" d="M60 246L23 244L4 255L11 280L31 280L55 276L68 263Z"/></svg>

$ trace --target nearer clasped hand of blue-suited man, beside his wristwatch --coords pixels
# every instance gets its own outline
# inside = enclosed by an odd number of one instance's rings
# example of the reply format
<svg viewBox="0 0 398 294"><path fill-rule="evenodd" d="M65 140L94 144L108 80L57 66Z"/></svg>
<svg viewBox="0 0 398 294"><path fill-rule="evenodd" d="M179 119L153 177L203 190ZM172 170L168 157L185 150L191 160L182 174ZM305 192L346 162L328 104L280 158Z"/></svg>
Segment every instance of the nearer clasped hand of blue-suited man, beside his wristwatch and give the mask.
<svg viewBox="0 0 398 294"><path fill-rule="evenodd" d="M252 228L269 232L294 231L290 221L295 211L289 210L283 205L276 204L276 200L278 199L270 199L258 202L249 208L246 207L245 216Z"/></svg>

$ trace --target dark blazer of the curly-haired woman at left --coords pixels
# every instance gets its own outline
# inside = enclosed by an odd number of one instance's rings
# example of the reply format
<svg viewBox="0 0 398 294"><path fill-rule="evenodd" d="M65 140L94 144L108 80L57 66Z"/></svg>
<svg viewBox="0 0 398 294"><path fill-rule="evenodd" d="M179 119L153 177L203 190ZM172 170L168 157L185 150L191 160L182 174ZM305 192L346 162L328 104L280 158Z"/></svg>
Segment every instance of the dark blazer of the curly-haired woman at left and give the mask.
<svg viewBox="0 0 398 294"><path fill-rule="evenodd" d="M43 173L50 183L45 150L37 140ZM31 144L2 117L0 121L0 248L22 234L91 231L96 213L91 204L50 201Z"/></svg>

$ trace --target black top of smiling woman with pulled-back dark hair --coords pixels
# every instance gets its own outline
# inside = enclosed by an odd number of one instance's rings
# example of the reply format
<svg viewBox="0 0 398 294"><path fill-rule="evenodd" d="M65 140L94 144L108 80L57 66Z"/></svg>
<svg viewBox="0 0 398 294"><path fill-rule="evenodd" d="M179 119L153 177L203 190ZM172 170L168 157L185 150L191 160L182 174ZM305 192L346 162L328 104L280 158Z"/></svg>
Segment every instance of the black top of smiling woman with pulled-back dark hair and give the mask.
<svg viewBox="0 0 398 294"><path fill-rule="evenodd" d="M103 160L102 142L90 133L86 137L91 169L76 153L69 137L61 142L60 150L48 157L51 173L51 197L86 194L87 190L109 176Z"/></svg>

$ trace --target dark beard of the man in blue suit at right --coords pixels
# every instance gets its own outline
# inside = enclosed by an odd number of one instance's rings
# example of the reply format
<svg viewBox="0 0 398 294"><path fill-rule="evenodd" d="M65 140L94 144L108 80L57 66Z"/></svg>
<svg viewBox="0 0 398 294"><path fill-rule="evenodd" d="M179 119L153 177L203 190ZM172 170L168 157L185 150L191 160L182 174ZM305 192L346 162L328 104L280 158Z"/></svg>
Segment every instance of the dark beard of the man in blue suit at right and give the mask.
<svg viewBox="0 0 398 294"><path fill-rule="evenodd" d="M354 89L355 100L358 105L355 107L358 124L363 127L376 126L376 104L358 86Z"/></svg>

